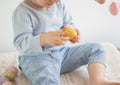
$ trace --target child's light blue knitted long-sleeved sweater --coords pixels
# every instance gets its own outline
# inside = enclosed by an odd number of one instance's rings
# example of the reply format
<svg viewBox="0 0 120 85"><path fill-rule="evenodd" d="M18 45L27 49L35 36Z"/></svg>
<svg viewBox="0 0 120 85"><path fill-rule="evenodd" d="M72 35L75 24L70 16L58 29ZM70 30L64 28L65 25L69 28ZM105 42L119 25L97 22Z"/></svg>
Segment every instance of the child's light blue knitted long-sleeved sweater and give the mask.
<svg viewBox="0 0 120 85"><path fill-rule="evenodd" d="M13 13L14 45L21 55L40 53L57 47L40 45L40 35L73 25L69 10L60 0L47 10L36 8L30 0L23 1ZM62 46L60 46L62 47Z"/></svg>

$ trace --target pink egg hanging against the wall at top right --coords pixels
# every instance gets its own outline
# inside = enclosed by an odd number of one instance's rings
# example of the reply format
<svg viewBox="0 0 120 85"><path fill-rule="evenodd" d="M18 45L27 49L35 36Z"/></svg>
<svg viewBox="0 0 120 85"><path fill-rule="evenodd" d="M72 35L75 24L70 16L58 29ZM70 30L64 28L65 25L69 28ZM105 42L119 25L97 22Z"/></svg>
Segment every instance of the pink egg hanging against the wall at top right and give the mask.
<svg viewBox="0 0 120 85"><path fill-rule="evenodd" d="M119 12L119 6L116 2L112 2L109 6L109 11L112 15L117 15Z"/></svg>

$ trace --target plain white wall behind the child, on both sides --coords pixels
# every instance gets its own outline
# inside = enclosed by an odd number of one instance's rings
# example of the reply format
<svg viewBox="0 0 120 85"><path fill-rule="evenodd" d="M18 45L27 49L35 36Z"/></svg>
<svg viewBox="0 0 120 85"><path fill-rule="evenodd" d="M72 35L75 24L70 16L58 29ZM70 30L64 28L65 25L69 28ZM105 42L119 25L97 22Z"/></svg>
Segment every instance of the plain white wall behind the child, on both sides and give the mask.
<svg viewBox="0 0 120 85"><path fill-rule="evenodd" d="M14 51L12 12L22 0L0 0L0 52ZM94 0L67 0L76 26L80 28L81 41L110 41L120 47L120 13L112 16L108 6ZM120 3L120 0L114 0Z"/></svg>

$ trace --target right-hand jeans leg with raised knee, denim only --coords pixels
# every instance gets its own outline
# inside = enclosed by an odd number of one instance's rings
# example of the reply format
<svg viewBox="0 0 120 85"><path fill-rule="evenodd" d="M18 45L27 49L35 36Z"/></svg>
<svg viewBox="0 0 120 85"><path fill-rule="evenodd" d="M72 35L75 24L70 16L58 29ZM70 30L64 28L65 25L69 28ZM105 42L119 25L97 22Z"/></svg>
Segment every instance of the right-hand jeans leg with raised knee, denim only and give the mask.
<svg viewBox="0 0 120 85"><path fill-rule="evenodd" d="M85 43L71 47L65 56L61 73L66 73L77 69L80 66L98 62L105 64L105 50L99 43Z"/></svg>

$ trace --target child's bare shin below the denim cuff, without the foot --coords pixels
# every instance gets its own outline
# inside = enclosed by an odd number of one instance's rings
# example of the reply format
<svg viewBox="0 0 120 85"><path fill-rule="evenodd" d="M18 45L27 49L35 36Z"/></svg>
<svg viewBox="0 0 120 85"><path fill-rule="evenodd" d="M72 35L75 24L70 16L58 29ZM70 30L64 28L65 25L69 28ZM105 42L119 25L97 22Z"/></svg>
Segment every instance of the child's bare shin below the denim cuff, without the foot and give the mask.
<svg viewBox="0 0 120 85"><path fill-rule="evenodd" d="M98 85L98 82L104 81L105 66L100 63L91 63L88 66L90 85ZM99 84L103 85L103 84Z"/></svg>

